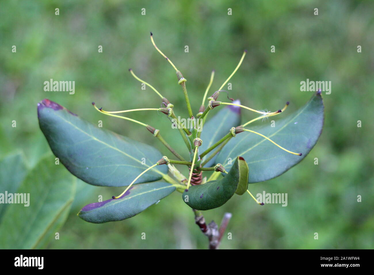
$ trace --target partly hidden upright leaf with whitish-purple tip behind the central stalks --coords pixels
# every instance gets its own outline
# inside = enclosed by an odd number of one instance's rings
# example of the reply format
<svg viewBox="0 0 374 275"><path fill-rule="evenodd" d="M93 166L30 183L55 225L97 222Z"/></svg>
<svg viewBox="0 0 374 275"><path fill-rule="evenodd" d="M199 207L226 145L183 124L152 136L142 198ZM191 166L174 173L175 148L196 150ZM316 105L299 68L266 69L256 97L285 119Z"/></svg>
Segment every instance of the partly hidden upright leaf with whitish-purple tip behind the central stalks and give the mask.
<svg viewBox="0 0 374 275"><path fill-rule="evenodd" d="M240 104L239 100L234 101L236 104ZM217 109L210 110L209 115L214 113ZM239 126L240 124L240 107L228 105L223 109L219 110L211 119L208 119L203 126L203 131L201 133L200 138L202 139L203 143L199 147L199 153L204 152L206 149L211 147L214 143L218 140L223 138L232 127ZM209 152L204 158L203 161L207 159L215 150ZM204 166L210 167L214 164L214 156L210 161L208 161Z"/></svg>

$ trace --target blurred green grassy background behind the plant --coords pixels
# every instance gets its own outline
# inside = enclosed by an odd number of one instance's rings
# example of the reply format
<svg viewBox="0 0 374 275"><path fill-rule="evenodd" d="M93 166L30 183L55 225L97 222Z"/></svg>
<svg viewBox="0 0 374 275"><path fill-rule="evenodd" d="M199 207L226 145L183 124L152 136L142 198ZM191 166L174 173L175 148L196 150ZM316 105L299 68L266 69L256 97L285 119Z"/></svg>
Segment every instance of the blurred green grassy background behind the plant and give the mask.
<svg viewBox="0 0 374 275"><path fill-rule="evenodd" d="M329 95L322 93L324 130L305 160L280 177L249 185L253 194L288 193L287 207L260 207L247 195L234 195L223 207L204 212L207 222L217 223L225 212L233 213L226 231L232 239L224 237L220 248L373 248L373 14L373 1L2 1L0 157L22 150L32 167L50 152L37 121L36 104L43 98L93 123L102 120L104 128L167 154L144 128L102 116L91 102L107 110L160 107L157 95L149 88L142 90L132 78L128 69L133 68L174 103L177 114L187 117L175 71L151 45L150 31L188 80L194 113L211 70L216 75L209 95L248 49L230 80L230 97L246 106L273 110L290 101L291 113L312 95L300 91L300 81L307 78L331 81L332 89ZM272 45L275 53L270 52ZM45 92L43 83L51 78L74 80L75 94ZM242 113L245 121L255 117ZM186 155L180 136L166 134L177 133L162 114L136 116L160 129L171 146ZM125 221L91 224L76 216L98 195L108 199L118 191L122 188L79 181L60 239L46 247L207 248L191 209L177 192Z"/></svg>

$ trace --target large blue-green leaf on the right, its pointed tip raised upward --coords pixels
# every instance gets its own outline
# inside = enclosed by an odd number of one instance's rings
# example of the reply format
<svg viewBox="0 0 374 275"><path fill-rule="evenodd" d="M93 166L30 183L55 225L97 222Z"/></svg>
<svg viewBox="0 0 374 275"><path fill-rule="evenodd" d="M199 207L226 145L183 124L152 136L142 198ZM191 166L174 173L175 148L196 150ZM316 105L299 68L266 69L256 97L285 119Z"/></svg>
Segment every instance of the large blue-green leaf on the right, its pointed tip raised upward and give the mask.
<svg viewBox="0 0 374 275"><path fill-rule="evenodd" d="M324 105L320 93L313 95L310 101L295 113L281 118L282 114L272 117L275 127L270 125L249 127L253 131L266 135L280 146L302 156L292 155L276 147L265 138L242 132L232 138L221 150L216 162L223 164L227 171L230 159L242 156L249 170L248 183L270 180L300 162L316 144L324 124ZM226 166L225 166L226 165Z"/></svg>

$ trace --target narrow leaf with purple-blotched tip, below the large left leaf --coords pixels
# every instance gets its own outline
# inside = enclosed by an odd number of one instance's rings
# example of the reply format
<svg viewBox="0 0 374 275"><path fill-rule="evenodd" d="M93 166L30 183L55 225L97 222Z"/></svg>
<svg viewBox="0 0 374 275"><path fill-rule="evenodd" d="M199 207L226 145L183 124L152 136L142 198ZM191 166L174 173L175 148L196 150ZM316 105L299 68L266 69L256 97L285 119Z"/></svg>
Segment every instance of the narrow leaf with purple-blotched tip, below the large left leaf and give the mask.
<svg viewBox="0 0 374 275"><path fill-rule="evenodd" d="M144 211L174 190L173 185L162 181L137 184L118 199L86 205L78 216L90 223L125 220Z"/></svg>

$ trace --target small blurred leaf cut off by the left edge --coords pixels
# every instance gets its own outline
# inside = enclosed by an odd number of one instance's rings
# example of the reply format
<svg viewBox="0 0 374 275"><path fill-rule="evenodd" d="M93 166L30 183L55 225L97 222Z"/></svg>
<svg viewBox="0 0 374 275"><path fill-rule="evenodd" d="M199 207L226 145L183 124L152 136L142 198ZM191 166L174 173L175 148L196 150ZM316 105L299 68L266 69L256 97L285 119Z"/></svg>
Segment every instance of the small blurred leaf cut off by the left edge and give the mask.
<svg viewBox="0 0 374 275"><path fill-rule="evenodd" d="M0 161L0 193L15 193L26 176L27 168L22 153L14 153ZM0 222L8 204L0 203Z"/></svg>

